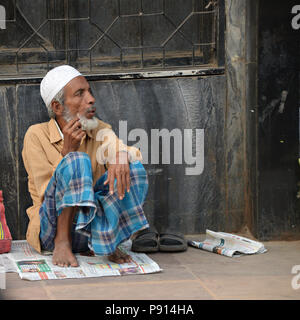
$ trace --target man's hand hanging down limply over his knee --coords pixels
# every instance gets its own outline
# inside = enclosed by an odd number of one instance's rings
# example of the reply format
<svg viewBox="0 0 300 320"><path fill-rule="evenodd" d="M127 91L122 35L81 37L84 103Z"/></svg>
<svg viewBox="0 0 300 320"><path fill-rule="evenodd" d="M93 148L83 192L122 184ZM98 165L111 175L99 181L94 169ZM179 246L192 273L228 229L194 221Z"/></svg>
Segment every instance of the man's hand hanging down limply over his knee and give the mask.
<svg viewBox="0 0 300 320"><path fill-rule="evenodd" d="M125 196L125 190L130 190L130 169L128 163L127 152L117 152L116 164L109 164L107 179L104 185L109 184L109 192L114 192L114 181L117 178L117 191L119 199L122 200Z"/></svg>

